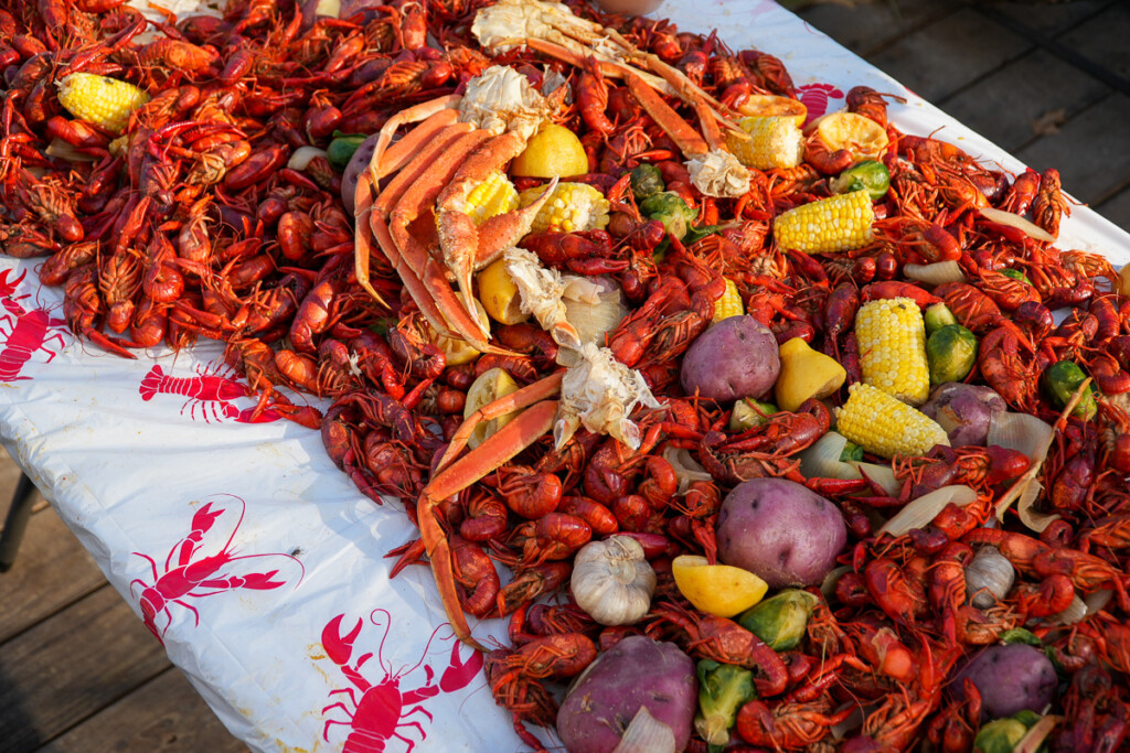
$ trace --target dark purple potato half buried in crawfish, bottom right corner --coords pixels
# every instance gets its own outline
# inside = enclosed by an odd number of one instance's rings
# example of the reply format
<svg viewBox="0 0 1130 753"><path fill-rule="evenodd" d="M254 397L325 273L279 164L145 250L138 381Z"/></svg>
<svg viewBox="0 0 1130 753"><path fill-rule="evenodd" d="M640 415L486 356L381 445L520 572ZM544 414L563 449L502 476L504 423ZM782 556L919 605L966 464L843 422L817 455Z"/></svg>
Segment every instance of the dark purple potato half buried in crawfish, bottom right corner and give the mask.
<svg viewBox="0 0 1130 753"><path fill-rule="evenodd" d="M990 646L970 659L954 677L951 686L958 698L965 697L966 677L981 693L981 709L990 719L1025 709L1042 713L1055 698L1059 683L1048 656L1026 643Z"/></svg>

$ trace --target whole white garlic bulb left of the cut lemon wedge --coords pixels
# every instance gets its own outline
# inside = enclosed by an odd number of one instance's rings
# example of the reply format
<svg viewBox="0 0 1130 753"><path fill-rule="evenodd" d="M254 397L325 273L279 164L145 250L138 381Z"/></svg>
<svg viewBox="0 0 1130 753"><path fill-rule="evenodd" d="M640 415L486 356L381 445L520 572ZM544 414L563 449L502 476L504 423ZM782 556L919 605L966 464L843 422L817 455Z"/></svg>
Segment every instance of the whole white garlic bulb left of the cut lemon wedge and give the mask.
<svg viewBox="0 0 1130 753"><path fill-rule="evenodd" d="M629 625L651 608L655 571L643 558L643 546L631 536L592 541L576 553L573 598L603 625Z"/></svg>

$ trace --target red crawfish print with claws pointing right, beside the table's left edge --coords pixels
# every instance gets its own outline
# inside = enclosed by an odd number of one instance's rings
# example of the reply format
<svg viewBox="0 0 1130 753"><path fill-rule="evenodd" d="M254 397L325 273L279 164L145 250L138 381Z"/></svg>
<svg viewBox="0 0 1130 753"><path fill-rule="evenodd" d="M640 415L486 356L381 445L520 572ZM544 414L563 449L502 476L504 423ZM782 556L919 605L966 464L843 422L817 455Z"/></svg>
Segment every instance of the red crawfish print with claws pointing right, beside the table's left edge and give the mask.
<svg viewBox="0 0 1130 753"><path fill-rule="evenodd" d="M209 501L192 516L192 529L189 535L176 542L165 558L164 572L157 571L157 563L151 557L141 552L132 552L149 562L153 568L153 583L147 584L141 578L130 581L130 595L133 595L133 587L140 586L141 593L138 602L141 606L145 625L164 643L164 636L173 624L173 612L171 605L176 604L192 612L194 624L200 624L200 613L189 604L189 598L201 598L203 596L215 596L235 588L250 588L253 590L270 590L288 583L289 578L276 578L279 570L286 567L293 570L290 575L297 575L298 580L295 588L302 583L305 576L305 568L295 557L290 554L236 554L232 548L240 524L243 523L243 515L246 513L246 504L234 494L224 494L231 498L224 502ZM236 506L231 500L238 502ZM233 515L238 509L237 515ZM224 518L224 525L217 527L217 523ZM231 525L231 533L224 537L224 528ZM208 553L208 552L215 553ZM267 571L257 571L270 564L279 567ZM295 567L297 569L295 569ZM157 628L157 618L164 616L164 628Z"/></svg>

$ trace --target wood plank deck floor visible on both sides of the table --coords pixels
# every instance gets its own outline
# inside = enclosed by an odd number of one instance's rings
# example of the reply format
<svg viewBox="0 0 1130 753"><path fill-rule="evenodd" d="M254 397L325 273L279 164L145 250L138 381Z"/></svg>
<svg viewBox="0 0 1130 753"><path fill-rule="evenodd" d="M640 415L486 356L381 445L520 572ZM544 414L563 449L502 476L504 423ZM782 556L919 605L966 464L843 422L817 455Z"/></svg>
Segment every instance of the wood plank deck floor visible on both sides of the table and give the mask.
<svg viewBox="0 0 1130 753"><path fill-rule="evenodd" d="M800 15L1130 230L1130 3L875 0ZM0 452L0 522L19 471ZM42 500L0 573L0 753L246 751Z"/></svg>

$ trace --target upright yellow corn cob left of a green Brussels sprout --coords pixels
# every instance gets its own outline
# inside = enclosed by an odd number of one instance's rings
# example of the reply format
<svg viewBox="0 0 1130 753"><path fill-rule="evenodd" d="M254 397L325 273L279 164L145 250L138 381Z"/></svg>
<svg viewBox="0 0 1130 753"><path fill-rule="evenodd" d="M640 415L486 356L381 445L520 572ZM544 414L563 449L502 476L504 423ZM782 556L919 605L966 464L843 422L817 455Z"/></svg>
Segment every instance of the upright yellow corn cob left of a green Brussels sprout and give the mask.
<svg viewBox="0 0 1130 753"><path fill-rule="evenodd" d="M911 405L930 396L925 324L912 298L872 300L855 315L863 382Z"/></svg>

